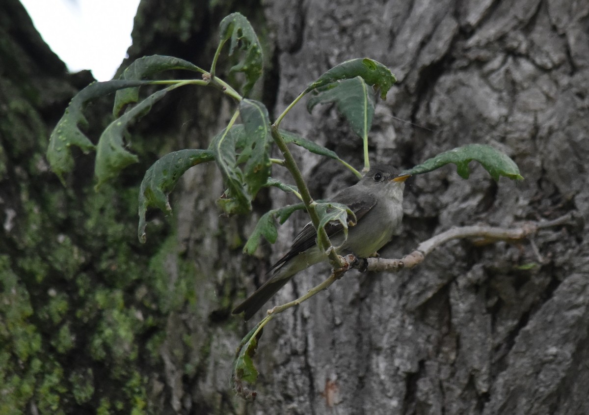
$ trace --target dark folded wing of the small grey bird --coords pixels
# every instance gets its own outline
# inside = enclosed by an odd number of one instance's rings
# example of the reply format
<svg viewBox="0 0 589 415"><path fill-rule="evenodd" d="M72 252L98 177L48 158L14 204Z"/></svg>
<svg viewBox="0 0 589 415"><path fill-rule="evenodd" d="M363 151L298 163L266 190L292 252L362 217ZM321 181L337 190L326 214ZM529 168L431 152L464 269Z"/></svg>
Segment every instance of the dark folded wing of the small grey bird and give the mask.
<svg viewBox="0 0 589 415"><path fill-rule="evenodd" d="M335 195L332 200L333 202L342 203L342 205L348 206L350 210L354 212L354 215L356 215L356 223L376 205L376 197L370 193L364 193L362 200L353 201L350 199L349 192L345 191L337 193L337 195ZM341 232L342 230L343 225L340 222L329 222L325 226L325 231L327 232L327 236L329 236L329 238ZM317 232L315 231L315 228L313 228L313 223L309 222L307 225L305 225L305 228L300 231L299 235L294 238L292 246L290 246L290 251L280 258L276 264L272 265L272 268L270 268L269 272L278 270L290 259L299 255L299 253L305 252L307 249L312 248L316 244Z"/></svg>

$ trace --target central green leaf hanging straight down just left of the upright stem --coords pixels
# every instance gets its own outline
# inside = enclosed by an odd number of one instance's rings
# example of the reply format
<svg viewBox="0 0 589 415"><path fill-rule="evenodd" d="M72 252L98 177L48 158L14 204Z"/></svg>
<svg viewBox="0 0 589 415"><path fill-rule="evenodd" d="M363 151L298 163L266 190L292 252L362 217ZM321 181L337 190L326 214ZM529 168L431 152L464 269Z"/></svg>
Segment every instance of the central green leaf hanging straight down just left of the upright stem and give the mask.
<svg viewBox="0 0 589 415"><path fill-rule="evenodd" d="M239 111L245 132L244 140L239 143L240 159L246 159L244 178L253 199L270 177L270 118L264 104L253 100L241 100Z"/></svg>

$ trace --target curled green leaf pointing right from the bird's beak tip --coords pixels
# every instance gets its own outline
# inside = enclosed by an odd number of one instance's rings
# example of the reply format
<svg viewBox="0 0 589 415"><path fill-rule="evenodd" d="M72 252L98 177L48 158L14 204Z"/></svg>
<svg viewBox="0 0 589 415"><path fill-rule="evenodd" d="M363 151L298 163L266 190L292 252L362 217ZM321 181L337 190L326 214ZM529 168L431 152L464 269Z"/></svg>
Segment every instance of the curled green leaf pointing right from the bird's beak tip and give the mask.
<svg viewBox="0 0 589 415"><path fill-rule="evenodd" d="M519 174L519 168L507 154L494 149L486 144L468 144L466 146L458 147L453 150L445 151L438 154L425 163L419 164L412 169L401 172L399 176L407 176L413 174L422 174L439 169L448 163L456 164L456 171L463 179L468 179L470 170L468 163L475 160L481 163L481 166L491 174L495 180L499 180L499 176L509 177L512 180L523 180L524 177Z"/></svg>

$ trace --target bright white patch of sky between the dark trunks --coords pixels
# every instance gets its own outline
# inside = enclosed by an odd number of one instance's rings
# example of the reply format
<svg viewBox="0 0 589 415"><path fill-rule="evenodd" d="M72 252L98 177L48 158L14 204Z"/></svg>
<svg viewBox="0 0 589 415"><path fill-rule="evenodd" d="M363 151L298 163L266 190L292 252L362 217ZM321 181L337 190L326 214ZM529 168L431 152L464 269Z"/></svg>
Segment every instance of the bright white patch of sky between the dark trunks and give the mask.
<svg viewBox="0 0 589 415"><path fill-rule="evenodd" d="M21 0L49 45L71 72L112 79L131 45L139 0Z"/></svg>

